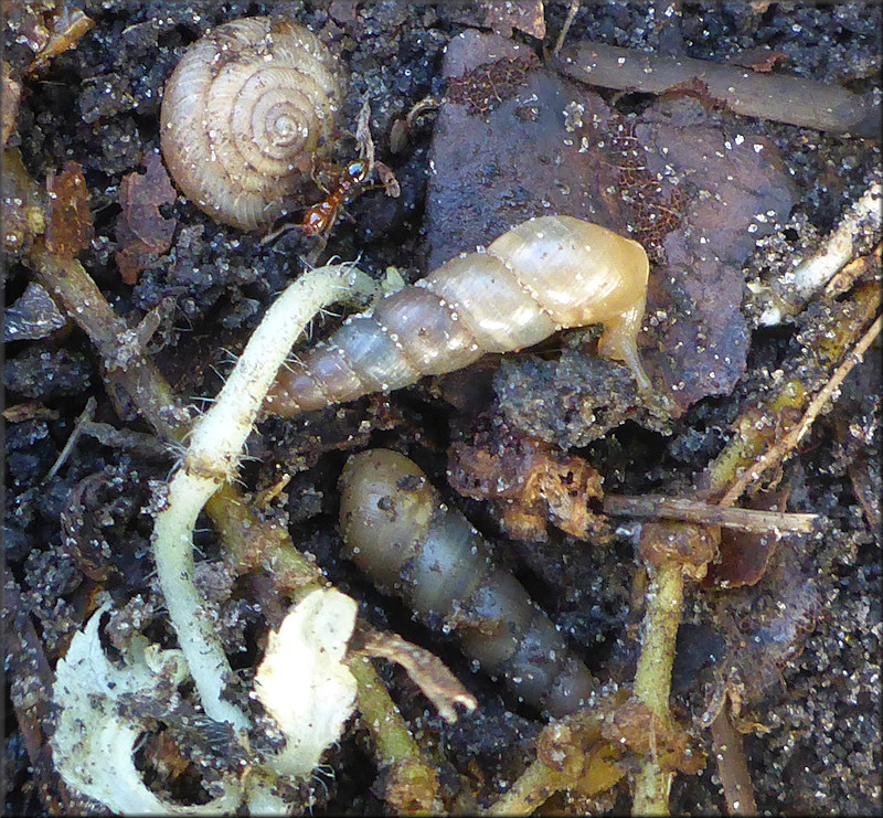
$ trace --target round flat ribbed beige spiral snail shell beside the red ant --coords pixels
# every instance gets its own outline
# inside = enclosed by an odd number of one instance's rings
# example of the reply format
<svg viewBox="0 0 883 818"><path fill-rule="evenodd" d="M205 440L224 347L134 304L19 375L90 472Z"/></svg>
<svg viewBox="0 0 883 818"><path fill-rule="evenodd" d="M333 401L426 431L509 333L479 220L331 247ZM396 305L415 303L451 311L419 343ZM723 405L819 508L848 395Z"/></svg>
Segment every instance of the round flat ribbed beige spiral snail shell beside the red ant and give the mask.
<svg viewBox="0 0 883 818"><path fill-rule="evenodd" d="M166 84L162 156L220 222L268 225L297 203L340 105L334 61L288 20L234 20L191 45Z"/></svg>

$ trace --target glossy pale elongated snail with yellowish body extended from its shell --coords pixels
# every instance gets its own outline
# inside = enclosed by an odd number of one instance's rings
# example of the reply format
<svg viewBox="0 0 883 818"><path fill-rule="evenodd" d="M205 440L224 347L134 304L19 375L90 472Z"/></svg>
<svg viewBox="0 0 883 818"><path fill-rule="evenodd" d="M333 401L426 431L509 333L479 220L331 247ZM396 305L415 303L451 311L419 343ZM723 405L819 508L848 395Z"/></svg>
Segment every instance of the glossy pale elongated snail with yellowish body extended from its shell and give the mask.
<svg viewBox="0 0 883 818"><path fill-rule="evenodd" d="M400 389L589 323L604 325L600 353L649 389L637 348L648 270L630 238L572 216L532 219L348 319L280 370L265 410L289 416Z"/></svg>

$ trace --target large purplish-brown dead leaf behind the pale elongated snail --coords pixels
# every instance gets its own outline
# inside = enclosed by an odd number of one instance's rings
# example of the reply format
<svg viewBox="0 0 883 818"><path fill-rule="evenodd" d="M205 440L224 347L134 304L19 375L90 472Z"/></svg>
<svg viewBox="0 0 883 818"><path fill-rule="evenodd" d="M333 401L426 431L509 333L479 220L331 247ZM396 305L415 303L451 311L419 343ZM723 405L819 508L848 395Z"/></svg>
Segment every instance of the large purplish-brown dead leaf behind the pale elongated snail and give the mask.
<svg viewBox="0 0 883 818"><path fill-rule="evenodd" d="M540 66L507 98L496 81L490 87L492 77L474 70L524 57L513 46L474 31L448 45L446 77L476 87L448 94L438 110L425 216L428 266L487 245L531 216L567 214L629 235L652 263L641 360L671 399L671 414L728 394L748 349L744 262L792 204L776 146L722 127L693 98L701 85L624 117L600 95ZM477 103L480 116L470 113ZM521 372L518 396L528 400L530 391L538 405L561 403L528 364ZM564 385L571 394L578 390L573 379ZM554 437L562 447L585 445L573 439L583 434L579 422L587 428L599 414L582 396L578 402L591 411L577 408L574 395L570 412L550 418L566 428L566 438ZM536 426L522 428L538 435Z"/></svg>

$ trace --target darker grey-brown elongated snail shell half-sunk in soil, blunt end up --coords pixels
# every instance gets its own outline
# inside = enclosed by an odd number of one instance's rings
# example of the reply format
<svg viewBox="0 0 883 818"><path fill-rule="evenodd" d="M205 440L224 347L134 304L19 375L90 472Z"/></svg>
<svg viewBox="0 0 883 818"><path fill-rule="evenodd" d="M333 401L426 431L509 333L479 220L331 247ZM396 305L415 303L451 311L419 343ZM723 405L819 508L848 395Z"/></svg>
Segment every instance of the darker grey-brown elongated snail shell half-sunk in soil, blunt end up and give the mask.
<svg viewBox="0 0 883 818"><path fill-rule="evenodd" d="M389 449L354 455L341 477L348 555L464 654L553 716L576 711L595 680L509 573L496 569L467 519L442 504L415 463Z"/></svg>

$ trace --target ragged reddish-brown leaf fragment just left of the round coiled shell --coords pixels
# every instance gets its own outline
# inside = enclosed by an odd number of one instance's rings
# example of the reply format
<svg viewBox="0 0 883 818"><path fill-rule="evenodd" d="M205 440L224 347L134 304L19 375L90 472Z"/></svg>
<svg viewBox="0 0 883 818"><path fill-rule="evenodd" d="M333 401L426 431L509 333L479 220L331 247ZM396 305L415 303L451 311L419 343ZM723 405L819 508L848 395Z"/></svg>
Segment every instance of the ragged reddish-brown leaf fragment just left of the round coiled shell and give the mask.
<svg viewBox="0 0 883 818"><path fill-rule="evenodd" d="M138 275L166 253L178 222L159 209L175 199L175 191L159 153L148 153L146 173L128 173L119 185L123 212L117 219L117 240L121 249L115 258L126 284L137 284Z"/></svg>

